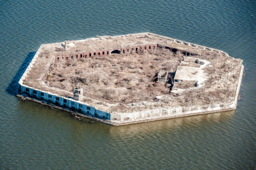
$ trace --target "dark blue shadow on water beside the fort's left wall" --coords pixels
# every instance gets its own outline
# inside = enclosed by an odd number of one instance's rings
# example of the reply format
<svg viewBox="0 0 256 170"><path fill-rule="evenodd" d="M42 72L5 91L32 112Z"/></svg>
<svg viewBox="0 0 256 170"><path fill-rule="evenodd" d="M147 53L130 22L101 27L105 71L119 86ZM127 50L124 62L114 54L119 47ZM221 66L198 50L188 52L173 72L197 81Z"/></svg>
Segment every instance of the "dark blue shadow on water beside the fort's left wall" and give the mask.
<svg viewBox="0 0 256 170"><path fill-rule="evenodd" d="M22 65L18 69L17 73L15 76L12 78L12 81L8 85L6 92L10 95L16 95L18 92L18 81L20 80L21 76L23 75L24 71L28 67L30 61L34 57L36 52L29 52L26 59L23 61Z"/></svg>

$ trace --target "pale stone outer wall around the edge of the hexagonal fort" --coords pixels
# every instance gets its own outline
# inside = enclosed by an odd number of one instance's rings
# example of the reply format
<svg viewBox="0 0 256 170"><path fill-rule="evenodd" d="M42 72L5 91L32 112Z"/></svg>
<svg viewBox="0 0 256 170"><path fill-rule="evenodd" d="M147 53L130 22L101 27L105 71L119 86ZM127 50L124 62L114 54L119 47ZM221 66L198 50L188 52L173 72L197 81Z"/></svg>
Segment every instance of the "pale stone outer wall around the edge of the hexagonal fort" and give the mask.
<svg viewBox="0 0 256 170"><path fill-rule="evenodd" d="M213 49L213 48L205 47L202 45L196 45L194 43L188 43L188 42L184 42L184 41L180 41L180 40L176 40L176 39L172 39L172 38L168 38L165 36L160 36L160 35L152 34L152 33L148 33L148 32L139 33L139 34L128 34L128 35L122 35L122 36L113 36L112 38L123 37L123 36L141 36L141 35L145 35L145 34L159 36L159 37L164 38L169 41L183 43L185 45L190 45L190 46L201 48L201 49L207 49L209 51L216 51L218 53L222 53L223 55L226 55L227 57L229 57L229 55L227 53L224 53L223 51L220 51L218 49ZM77 40L77 41L100 40L100 39L106 38L106 37L109 37L109 36L104 36L104 37L99 37L99 38L88 38L86 40ZM241 64L241 68L240 68L238 84L236 86L236 94L235 94L234 101L232 101L230 103L220 103L220 104L205 105L205 106L176 107L176 108L169 108L169 109L156 108L156 109L152 109L152 110L143 110L143 111L132 112L132 113L106 113L106 112L100 110L100 108L90 105L89 103L75 101L69 97L60 96L58 94L54 94L49 91L42 91L40 89L36 89L34 87L29 87L28 85L25 85L23 83L23 81L24 81L25 77L28 75L28 73L30 72L30 70L32 69L33 65L35 64L36 59L38 58L38 55L40 54L42 49L47 45L53 45L53 44L60 45L61 43L62 42L43 44L39 47L34 58L30 62L26 71L24 72L20 81L18 82L18 86L19 86L18 87L19 94L17 95L18 97L24 97L26 99L36 101L38 103L42 103L45 105L55 107L57 109L68 111L75 115L80 115L82 117L87 117L87 118L101 121L103 123L106 123L109 125L114 125L114 126L236 109L240 84L242 81L242 74L243 74L243 70L244 70L244 66L242 64ZM51 65L51 63L48 63L46 70L45 70L46 72L48 72L50 70L50 65Z"/></svg>

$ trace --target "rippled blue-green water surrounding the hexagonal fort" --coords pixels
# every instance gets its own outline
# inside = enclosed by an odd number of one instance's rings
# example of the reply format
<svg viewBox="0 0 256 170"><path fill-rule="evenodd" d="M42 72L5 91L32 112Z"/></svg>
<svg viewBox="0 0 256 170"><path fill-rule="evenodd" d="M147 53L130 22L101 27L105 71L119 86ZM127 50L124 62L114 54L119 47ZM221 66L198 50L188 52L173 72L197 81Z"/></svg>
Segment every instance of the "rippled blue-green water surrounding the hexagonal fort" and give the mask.
<svg viewBox="0 0 256 170"><path fill-rule="evenodd" d="M153 32L244 60L235 111L111 127L14 96L42 43ZM0 169L255 169L256 3L0 0Z"/></svg>

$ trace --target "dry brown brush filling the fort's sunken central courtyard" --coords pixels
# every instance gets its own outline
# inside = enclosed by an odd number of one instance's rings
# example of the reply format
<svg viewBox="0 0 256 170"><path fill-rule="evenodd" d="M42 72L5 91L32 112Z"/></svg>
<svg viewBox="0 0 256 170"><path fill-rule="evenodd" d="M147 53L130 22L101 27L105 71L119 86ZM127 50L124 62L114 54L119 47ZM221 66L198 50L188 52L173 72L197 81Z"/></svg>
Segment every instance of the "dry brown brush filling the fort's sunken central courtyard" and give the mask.
<svg viewBox="0 0 256 170"><path fill-rule="evenodd" d="M79 83L84 96L108 103L155 101L156 96L170 91L170 84L155 81L158 72L175 71L181 59L180 53L157 48L138 53L61 60L55 63L48 81L50 86L66 91L72 91L72 85Z"/></svg>

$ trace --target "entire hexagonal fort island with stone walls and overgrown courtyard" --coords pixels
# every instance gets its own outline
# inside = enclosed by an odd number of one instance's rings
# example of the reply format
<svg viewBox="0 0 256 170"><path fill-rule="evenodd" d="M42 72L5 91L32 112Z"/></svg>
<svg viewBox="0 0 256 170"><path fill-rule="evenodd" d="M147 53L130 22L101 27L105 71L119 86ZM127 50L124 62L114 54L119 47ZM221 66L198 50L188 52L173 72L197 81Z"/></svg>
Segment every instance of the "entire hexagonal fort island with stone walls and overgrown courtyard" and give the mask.
<svg viewBox="0 0 256 170"><path fill-rule="evenodd" d="M244 66L218 49L149 32L42 44L18 94L126 125L236 109Z"/></svg>

